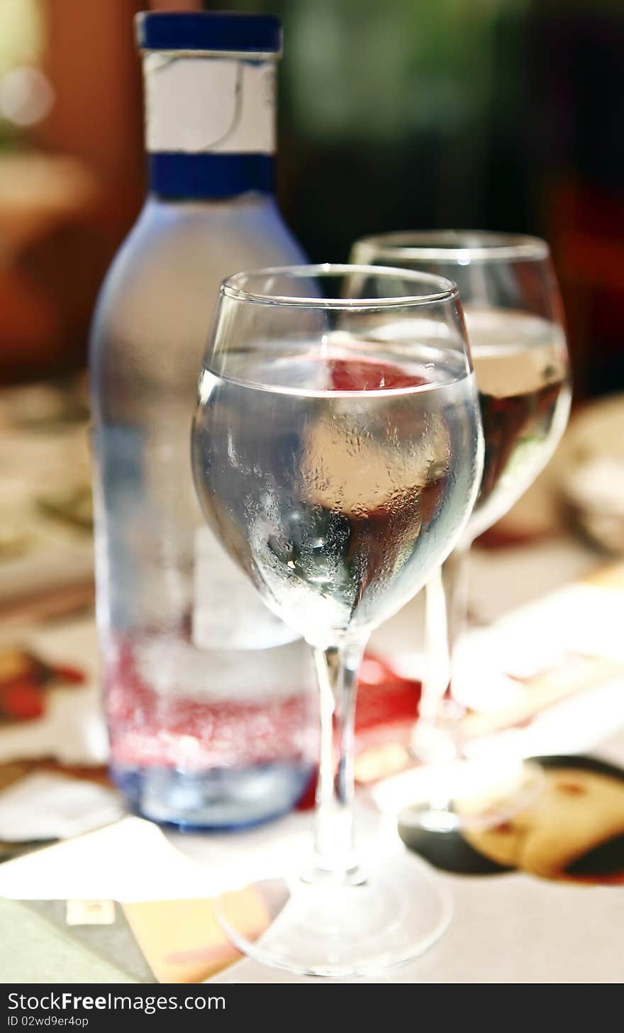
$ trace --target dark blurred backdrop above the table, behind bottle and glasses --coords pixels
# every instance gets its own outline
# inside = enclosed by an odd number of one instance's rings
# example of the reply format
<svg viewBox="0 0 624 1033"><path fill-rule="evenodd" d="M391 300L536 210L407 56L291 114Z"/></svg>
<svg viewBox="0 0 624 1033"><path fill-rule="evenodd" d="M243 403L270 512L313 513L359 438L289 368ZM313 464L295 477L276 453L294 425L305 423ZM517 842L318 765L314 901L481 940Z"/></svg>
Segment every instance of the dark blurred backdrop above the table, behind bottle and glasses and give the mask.
<svg viewBox="0 0 624 1033"><path fill-rule="evenodd" d="M279 193L313 259L399 228L553 246L576 399L624 387L622 0L2 0L0 382L85 364L142 204L139 9L280 14Z"/></svg>

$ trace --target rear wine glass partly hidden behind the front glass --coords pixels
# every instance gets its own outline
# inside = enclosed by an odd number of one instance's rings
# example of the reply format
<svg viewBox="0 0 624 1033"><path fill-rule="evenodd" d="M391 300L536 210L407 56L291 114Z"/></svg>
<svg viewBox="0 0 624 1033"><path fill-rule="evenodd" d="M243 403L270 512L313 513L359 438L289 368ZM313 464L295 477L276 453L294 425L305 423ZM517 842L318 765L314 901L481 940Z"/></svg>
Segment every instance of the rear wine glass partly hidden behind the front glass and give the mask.
<svg viewBox="0 0 624 1033"><path fill-rule="evenodd" d="M541 772L507 746L485 751L480 762L478 751L466 759L466 686L457 679L454 658L466 626L471 543L526 492L567 424L570 384L557 279L544 241L506 233L385 233L358 241L351 259L448 277L464 306L485 435L483 475L455 551L426 589L428 664L412 749L437 763L437 774L429 799L414 802L401 820L437 832L487 826L525 806L539 789Z"/></svg>

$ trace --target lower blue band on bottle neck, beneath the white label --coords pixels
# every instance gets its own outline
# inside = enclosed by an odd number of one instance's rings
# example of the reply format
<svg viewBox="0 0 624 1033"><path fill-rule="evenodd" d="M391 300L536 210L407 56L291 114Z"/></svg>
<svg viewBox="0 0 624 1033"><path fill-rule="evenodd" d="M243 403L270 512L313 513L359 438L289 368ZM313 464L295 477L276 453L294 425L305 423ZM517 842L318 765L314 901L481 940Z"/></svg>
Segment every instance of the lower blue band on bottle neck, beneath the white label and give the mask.
<svg viewBox="0 0 624 1033"><path fill-rule="evenodd" d="M233 197L248 190L275 191L272 154L185 154L159 151L148 155L150 192L161 197Z"/></svg>

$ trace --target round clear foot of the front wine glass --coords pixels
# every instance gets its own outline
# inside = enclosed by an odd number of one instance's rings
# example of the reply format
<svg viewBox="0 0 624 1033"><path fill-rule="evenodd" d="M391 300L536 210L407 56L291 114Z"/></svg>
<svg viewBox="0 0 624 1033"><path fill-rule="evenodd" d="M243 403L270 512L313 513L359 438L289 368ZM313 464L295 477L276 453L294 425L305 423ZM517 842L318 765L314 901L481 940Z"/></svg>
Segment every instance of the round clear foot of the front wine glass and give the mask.
<svg viewBox="0 0 624 1033"><path fill-rule="evenodd" d="M378 858L355 885L286 876L215 902L239 950L263 965L334 978L373 975L417 958L444 932L450 910L444 888L408 854Z"/></svg>

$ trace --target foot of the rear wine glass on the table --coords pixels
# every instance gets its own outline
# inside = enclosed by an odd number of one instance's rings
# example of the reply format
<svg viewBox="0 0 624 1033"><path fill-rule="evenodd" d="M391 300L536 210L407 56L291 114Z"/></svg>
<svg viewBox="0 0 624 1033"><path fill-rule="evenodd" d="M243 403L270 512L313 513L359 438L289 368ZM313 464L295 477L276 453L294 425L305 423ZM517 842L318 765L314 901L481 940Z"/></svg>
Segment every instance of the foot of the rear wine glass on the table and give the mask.
<svg viewBox="0 0 624 1033"><path fill-rule="evenodd" d="M435 795L415 797L400 811L399 824L431 833L491 828L530 807L543 784L543 770L533 761L513 764L494 782L488 766L458 761L437 773Z"/></svg>

